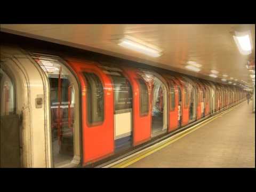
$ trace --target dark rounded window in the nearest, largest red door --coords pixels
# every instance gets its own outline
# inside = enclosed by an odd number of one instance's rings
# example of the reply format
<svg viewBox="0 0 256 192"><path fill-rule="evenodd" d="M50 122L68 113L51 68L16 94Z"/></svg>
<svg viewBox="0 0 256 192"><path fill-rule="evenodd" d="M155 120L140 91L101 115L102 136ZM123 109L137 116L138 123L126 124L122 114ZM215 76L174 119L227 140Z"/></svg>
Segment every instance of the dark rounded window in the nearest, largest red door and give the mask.
<svg viewBox="0 0 256 192"><path fill-rule="evenodd" d="M103 122L104 95L100 78L94 73L83 73L87 82L87 121L89 124Z"/></svg>

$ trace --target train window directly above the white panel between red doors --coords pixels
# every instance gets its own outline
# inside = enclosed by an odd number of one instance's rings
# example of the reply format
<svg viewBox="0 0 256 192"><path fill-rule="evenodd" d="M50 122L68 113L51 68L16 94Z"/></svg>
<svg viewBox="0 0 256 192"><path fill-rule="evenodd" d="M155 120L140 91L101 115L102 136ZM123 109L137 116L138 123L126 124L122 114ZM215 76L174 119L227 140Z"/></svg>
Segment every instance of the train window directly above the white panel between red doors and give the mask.
<svg viewBox="0 0 256 192"><path fill-rule="evenodd" d="M115 92L115 110L132 108L132 87L122 76L112 76Z"/></svg>

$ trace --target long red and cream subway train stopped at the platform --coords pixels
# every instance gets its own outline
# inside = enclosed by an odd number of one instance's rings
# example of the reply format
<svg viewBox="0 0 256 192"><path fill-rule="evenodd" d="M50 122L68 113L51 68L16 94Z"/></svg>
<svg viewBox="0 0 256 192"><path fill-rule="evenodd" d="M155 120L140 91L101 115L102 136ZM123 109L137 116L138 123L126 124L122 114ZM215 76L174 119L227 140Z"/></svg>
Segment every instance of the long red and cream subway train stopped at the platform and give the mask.
<svg viewBox="0 0 256 192"><path fill-rule="evenodd" d="M136 66L1 44L1 167L93 167L245 100Z"/></svg>

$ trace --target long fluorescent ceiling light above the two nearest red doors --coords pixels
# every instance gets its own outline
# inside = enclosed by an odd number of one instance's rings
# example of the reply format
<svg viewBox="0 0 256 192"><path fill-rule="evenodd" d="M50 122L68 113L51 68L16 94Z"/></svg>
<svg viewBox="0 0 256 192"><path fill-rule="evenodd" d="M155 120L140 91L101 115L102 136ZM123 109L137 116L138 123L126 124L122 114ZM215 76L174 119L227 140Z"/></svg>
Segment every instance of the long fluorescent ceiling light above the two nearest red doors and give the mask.
<svg viewBox="0 0 256 192"><path fill-rule="evenodd" d="M128 39L123 39L123 41L121 43L119 43L118 45L121 45L121 46L123 46L127 49L131 49L131 50L134 50L134 51L144 53L144 54L149 55L151 57L159 57L160 55L162 55L161 52L158 51L158 50L152 49L148 46L145 46L145 45L142 45L142 44L139 44L139 43L135 43L135 42L130 41Z"/></svg>

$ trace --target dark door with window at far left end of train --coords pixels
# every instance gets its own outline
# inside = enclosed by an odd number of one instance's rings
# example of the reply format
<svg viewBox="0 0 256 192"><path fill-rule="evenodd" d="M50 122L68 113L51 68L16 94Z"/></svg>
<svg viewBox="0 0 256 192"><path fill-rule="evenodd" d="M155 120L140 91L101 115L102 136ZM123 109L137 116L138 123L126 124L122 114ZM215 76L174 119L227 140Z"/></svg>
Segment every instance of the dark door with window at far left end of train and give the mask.
<svg viewBox="0 0 256 192"><path fill-rule="evenodd" d="M9 63L6 62L3 66L5 64ZM0 168L20 167L22 164L21 125L15 110L14 76L12 70L9 70L4 71L2 62L0 63Z"/></svg>

